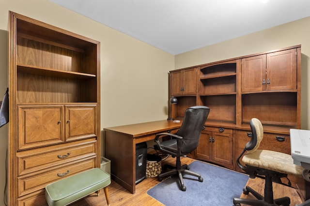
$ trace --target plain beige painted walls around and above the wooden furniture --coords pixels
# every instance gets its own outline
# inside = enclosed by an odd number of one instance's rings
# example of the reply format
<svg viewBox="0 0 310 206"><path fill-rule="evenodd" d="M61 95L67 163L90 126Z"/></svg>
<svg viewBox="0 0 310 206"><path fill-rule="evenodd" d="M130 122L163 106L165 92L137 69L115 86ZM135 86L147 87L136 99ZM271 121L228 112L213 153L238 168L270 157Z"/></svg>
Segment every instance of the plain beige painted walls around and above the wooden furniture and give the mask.
<svg viewBox="0 0 310 206"><path fill-rule="evenodd" d="M7 87L8 11L26 15L101 42L101 128L167 118L168 71L302 44L303 128L310 128L308 79L310 18L173 56L48 0L0 0L0 99ZM5 165L7 125L0 128ZM0 167L0 206L5 185Z"/></svg>

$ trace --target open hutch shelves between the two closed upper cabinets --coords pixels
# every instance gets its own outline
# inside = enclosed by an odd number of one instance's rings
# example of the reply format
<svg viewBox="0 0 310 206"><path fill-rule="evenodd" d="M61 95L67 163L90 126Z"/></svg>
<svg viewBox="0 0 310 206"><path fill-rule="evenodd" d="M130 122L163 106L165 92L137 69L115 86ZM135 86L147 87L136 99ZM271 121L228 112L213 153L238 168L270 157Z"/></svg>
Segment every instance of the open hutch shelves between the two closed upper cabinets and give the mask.
<svg viewBox="0 0 310 206"><path fill-rule="evenodd" d="M236 122L235 60L220 62L200 69L200 101L210 108L208 121Z"/></svg>

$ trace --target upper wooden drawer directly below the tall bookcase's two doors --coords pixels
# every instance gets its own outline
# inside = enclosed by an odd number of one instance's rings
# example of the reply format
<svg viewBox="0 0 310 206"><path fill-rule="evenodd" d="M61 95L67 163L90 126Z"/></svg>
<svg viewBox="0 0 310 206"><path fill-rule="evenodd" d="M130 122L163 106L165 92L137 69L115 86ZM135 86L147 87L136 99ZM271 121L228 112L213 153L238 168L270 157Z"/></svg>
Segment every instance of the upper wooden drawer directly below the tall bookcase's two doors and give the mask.
<svg viewBox="0 0 310 206"><path fill-rule="evenodd" d="M18 152L18 176L93 156L95 153L95 139Z"/></svg>

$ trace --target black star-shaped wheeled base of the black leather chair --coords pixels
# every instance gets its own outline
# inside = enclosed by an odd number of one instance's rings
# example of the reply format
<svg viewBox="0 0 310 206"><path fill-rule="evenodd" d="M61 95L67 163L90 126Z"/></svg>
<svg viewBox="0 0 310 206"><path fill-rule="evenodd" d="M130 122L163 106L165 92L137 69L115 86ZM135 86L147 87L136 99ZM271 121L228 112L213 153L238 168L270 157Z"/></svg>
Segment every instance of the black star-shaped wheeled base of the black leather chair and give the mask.
<svg viewBox="0 0 310 206"><path fill-rule="evenodd" d="M195 176L198 177L198 180L200 182L203 182L203 178L200 174L189 171L189 167L187 166L187 164L180 166L180 169L174 168L168 172L162 173L160 175L158 175L158 180L161 181L162 177L166 177L166 176L171 176L171 175L178 175L179 177L179 182L180 182L180 187L182 191L186 191L186 186L184 184L184 180L183 180L183 175L187 174L187 175L191 175L191 176Z"/></svg>

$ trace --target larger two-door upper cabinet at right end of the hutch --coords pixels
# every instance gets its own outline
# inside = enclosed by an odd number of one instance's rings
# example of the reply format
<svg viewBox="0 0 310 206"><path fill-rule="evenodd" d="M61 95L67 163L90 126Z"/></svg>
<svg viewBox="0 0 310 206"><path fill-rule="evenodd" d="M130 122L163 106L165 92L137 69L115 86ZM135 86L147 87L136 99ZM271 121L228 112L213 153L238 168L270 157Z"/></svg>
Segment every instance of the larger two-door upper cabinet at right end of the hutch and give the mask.
<svg viewBox="0 0 310 206"><path fill-rule="evenodd" d="M242 92L297 89L297 50L242 59Z"/></svg>

